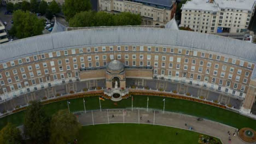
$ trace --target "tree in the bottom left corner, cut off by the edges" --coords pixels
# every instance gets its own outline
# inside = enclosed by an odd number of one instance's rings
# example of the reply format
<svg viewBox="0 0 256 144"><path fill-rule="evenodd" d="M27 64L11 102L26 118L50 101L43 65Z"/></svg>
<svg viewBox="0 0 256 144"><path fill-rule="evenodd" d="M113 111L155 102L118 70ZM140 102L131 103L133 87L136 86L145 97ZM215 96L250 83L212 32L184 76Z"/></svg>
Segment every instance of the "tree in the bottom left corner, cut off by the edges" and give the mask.
<svg viewBox="0 0 256 144"><path fill-rule="evenodd" d="M20 135L20 130L16 128L13 124L8 123L0 131L0 143L21 144L22 137Z"/></svg>

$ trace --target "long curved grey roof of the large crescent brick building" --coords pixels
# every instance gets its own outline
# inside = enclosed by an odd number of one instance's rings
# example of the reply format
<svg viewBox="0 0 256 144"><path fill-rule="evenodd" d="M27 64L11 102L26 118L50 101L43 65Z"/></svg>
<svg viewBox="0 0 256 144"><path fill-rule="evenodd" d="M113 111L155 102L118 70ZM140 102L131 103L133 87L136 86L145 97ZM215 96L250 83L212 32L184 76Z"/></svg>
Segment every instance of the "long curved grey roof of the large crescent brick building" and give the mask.
<svg viewBox="0 0 256 144"><path fill-rule="evenodd" d="M256 45L237 39L168 28L105 27L44 34L0 44L0 63L46 52L113 45L173 46L256 62Z"/></svg>

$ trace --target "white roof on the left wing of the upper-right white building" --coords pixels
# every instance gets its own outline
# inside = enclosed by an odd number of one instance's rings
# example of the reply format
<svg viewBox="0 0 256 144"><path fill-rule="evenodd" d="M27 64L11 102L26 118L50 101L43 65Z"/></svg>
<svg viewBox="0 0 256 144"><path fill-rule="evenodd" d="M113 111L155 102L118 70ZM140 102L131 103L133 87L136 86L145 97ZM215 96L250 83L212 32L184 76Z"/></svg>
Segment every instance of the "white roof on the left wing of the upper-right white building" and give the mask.
<svg viewBox="0 0 256 144"><path fill-rule="evenodd" d="M191 10L205 10L205 11L218 11L219 8L214 3L209 3L208 0L192 0L187 1L183 4L182 9L191 9Z"/></svg>

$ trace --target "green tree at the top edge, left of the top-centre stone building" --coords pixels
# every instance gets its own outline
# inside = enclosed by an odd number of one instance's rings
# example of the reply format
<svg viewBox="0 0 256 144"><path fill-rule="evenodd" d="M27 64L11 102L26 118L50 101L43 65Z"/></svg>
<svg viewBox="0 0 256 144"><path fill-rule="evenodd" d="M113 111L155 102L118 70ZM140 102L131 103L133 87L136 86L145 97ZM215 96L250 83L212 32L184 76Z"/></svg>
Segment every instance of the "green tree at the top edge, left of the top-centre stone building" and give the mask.
<svg viewBox="0 0 256 144"><path fill-rule="evenodd" d="M71 17L81 11L88 10L91 10L90 0L66 0L62 5L62 11L67 20L71 19Z"/></svg>

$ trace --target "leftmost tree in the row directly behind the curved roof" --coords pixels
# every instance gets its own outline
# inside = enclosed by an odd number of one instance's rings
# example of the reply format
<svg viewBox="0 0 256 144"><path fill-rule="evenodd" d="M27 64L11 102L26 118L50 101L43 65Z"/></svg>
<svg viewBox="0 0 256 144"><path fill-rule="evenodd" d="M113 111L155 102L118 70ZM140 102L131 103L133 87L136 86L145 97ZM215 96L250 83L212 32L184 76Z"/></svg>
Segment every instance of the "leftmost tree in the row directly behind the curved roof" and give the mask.
<svg viewBox="0 0 256 144"><path fill-rule="evenodd" d="M95 12L83 11L76 14L69 20L69 26L71 27L93 27L96 25Z"/></svg>

